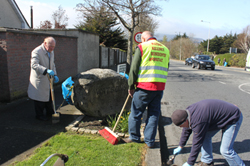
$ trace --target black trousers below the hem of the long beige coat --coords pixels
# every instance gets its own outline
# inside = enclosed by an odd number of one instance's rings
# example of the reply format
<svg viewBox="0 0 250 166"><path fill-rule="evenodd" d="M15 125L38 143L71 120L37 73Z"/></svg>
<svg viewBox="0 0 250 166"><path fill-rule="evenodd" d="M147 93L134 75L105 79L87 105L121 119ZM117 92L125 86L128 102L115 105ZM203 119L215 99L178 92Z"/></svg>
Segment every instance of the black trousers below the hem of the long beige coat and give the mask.
<svg viewBox="0 0 250 166"><path fill-rule="evenodd" d="M33 101L35 105L36 117L44 116L44 113L43 113L44 109L46 109L45 116L47 117L50 117L54 113L51 96L48 102L42 102L42 101L36 101L36 100L33 100Z"/></svg>

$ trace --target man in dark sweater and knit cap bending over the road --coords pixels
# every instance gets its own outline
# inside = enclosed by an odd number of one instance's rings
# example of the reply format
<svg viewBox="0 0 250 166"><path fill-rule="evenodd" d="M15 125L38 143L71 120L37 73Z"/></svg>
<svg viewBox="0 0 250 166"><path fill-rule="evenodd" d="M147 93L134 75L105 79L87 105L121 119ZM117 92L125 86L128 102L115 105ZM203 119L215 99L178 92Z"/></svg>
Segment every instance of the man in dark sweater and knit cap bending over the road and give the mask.
<svg viewBox="0 0 250 166"><path fill-rule="evenodd" d="M176 126L183 127L179 154L193 133L193 145L188 161L183 166L194 165L201 150L201 166L213 166L212 137L222 130L220 152L230 166L244 166L244 162L233 149L234 140L240 129L243 116L239 108L228 102L207 99L194 103L186 110L176 110L171 116Z"/></svg>

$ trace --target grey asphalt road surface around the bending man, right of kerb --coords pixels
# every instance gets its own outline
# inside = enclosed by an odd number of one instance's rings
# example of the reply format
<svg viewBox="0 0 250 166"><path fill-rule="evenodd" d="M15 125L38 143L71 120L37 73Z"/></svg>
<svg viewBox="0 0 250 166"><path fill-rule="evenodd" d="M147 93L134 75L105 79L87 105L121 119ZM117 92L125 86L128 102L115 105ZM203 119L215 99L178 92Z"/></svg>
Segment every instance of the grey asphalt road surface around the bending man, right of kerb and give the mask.
<svg viewBox="0 0 250 166"><path fill-rule="evenodd" d="M203 99L220 99L236 104L243 113L243 123L236 138L234 149L250 166L250 72L242 68L216 66L215 70L197 70L184 65L183 61L171 61L162 99L162 116L165 119L165 136L170 154L178 146L181 128L171 123L170 117L174 110L185 109L190 104ZM170 123L169 123L170 122ZM213 156L217 166L227 165L220 155L221 133L213 137ZM190 136L182 154L175 159L175 164L181 166L189 157L192 145ZM200 155L197 158L200 161Z"/></svg>

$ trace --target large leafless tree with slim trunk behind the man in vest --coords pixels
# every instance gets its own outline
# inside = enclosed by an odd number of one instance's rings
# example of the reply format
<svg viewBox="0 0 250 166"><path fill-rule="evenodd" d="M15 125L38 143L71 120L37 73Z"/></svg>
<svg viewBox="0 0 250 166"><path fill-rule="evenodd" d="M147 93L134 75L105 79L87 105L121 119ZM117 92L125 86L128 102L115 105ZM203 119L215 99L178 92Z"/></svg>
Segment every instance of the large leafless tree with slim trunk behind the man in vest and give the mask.
<svg viewBox="0 0 250 166"><path fill-rule="evenodd" d="M132 60L133 34L135 27L141 22L141 15L160 15L161 8L154 0L83 0L84 3L77 4L78 10L90 9L95 5L103 5L119 18L122 25L128 30L128 52L127 63Z"/></svg>

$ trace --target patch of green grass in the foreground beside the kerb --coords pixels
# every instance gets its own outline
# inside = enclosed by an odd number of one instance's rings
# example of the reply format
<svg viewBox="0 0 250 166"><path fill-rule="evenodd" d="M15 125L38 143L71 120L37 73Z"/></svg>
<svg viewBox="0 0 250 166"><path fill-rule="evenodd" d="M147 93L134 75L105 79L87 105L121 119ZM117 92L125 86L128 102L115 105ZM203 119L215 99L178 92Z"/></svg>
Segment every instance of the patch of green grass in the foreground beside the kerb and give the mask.
<svg viewBox="0 0 250 166"><path fill-rule="evenodd" d="M55 135L42 147L36 149L30 158L15 165L40 165L51 154L62 153L69 157L65 163L67 166L133 166L141 165L144 151L144 143L112 145L99 135L67 132ZM53 157L46 165L53 165L57 159L58 157Z"/></svg>

